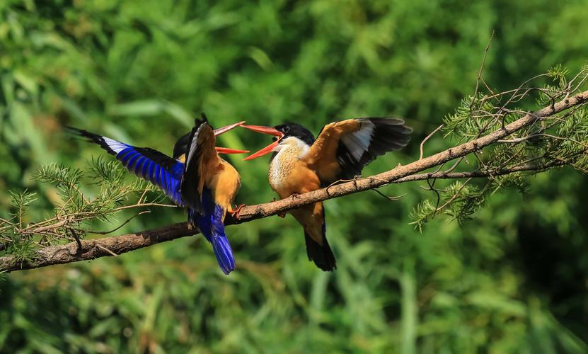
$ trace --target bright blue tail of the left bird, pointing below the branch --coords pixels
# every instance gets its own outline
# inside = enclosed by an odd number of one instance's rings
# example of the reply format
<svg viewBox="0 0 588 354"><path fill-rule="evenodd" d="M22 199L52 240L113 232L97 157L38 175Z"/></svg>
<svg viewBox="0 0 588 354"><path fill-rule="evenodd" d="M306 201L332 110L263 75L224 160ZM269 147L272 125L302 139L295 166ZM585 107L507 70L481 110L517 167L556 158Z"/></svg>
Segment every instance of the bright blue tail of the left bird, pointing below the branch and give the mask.
<svg viewBox="0 0 588 354"><path fill-rule="evenodd" d="M235 269L235 258L229 239L224 233L224 210L220 205L214 204L212 195L207 188L204 188L202 193L202 205L204 206L204 215L190 210L188 217L190 222L198 225L200 232L212 245L214 256L217 257L217 262L223 273L229 274Z"/></svg>

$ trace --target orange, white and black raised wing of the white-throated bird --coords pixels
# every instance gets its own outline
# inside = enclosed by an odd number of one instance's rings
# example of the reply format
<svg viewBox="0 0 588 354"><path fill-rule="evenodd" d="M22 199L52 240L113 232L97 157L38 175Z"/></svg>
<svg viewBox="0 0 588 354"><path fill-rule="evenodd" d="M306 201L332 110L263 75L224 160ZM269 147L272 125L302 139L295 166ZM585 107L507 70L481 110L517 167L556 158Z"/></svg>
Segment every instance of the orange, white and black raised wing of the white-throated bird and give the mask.
<svg viewBox="0 0 588 354"><path fill-rule="evenodd" d="M400 118L356 118L325 125L306 153L321 183L359 176L377 156L405 147L413 130Z"/></svg>

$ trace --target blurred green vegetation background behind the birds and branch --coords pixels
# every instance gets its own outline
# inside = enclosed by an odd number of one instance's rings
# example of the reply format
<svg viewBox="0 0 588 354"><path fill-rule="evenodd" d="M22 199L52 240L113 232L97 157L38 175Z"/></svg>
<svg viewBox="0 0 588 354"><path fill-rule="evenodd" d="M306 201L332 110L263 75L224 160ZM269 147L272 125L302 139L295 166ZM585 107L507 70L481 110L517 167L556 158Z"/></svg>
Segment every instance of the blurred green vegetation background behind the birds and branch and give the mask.
<svg viewBox="0 0 588 354"><path fill-rule="evenodd" d="M54 189L30 178L52 161L81 167L96 146L73 125L171 154L194 114L328 122L400 115L415 128L403 152L364 174L417 159L418 144L485 79L513 89L588 58L587 1L47 0L0 3L0 216L8 190ZM221 146L258 149L236 130ZM427 152L449 147L437 137ZM267 159L244 163L237 202L267 202ZM227 234L226 277L198 236L118 258L4 275L0 351L155 353L585 353L588 350L586 178L531 178L497 193L459 227L437 217L422 234L408 214L425 183L326 202L338 269L306 259L292 217ZM185 220L154 209L119 233ZM120 220L123 220L120 217ZM120 221L119 220L119 221ZM115 222L114 225L117 225ZM103 225L112 229L113 224Z"/></svg>

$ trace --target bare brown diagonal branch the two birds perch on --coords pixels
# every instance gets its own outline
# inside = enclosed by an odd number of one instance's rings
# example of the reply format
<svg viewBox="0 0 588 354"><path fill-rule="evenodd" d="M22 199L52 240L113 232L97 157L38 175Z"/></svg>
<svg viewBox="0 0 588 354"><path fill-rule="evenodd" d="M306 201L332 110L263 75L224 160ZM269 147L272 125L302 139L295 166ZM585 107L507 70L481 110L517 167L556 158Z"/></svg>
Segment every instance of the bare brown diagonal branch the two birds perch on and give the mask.
<svg viewBox="0 0 588 354"><path fill-rule="evenodd" d="M577 93L575 96L565 98L563 101L551 103L548 107L537 110L533 113L527 113L514 122L504 125L488 135L484 135L465 142L456 147L451 147L443 152L439 152L432 156L422 158L404 166L396 166L396 168L379 173L374 176L357 178L352 181L340 183L337 185L330 185L328 188L314 190L310 193L298 195L297 198L286 198L274 202L268 202L259 205L249 205L241 209L238 219L227 215L226 224L241 224L250 222L255 219L262 219L272 215L279 215L288 210L308 205L313 202L320 202L331 198L342 197L352 193L362 192L364 190L373 190L383 185L390 183L404 183L409 181L423 181L434 178L478 178L505 175L508 173L522 172L522 171L543 171L546 169L555 168L569 164L567 161L552 161L547 164L533 164L533 161L520 164L518 166L505 167L494 170L480 170L472 172L453 172L453 168L447 171L440 171L440 167L448 161L454 161L464 158L468 154L479 152L484 147L490 144L497 143L505 137L513 135L521 129L530 127L538 120L550 117L556 113L564 110L578 107L588 102L588 91ZM440 128L437 128L439 130ZM435 132L429 136L431 137ZM425 138L425 141L429 138ZM425 143L425 141L421 144ZM584 149L583 153L586 150ZM430 173L422 173L427 169L438 167L439 169ZM33 260L19 261L14 256L0 257L0 270L11 272L13 270L40 268L47 265L71 263L77 261L89 261L91 259L100 258L103 256L117 256L125 252L134 251L143 247L158 244L164 241L171 241L180 237L197 234L198 230L188 229L185 222L168 225L158 229L146 230L137 232L135 234L125 234L121 236L104 237L101 239L94 239L83 241L83 249L81 251L77 241L69 244L48 246L36 251Z"/></svg>

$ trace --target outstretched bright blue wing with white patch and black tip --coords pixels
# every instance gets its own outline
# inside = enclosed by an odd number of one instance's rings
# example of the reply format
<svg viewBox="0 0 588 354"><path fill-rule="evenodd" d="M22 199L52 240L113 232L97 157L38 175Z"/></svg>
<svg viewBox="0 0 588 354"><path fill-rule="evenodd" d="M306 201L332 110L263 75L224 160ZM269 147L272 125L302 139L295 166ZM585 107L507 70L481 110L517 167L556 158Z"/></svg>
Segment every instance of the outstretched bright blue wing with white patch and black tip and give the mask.
<svg viewBox="0 0 588 354"><path fill-rule="evenodd" d="M134 147L86 130L73 127L68 129L99 144L108 154L114 155L129 172L161 188L175 204L184 204L180 196L184 164L180 161L149 147Z"/></svg>

